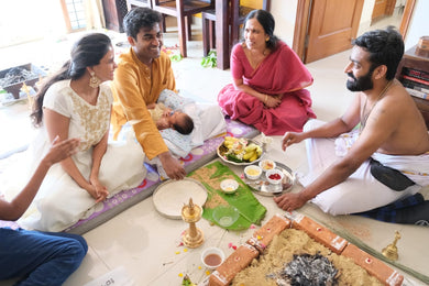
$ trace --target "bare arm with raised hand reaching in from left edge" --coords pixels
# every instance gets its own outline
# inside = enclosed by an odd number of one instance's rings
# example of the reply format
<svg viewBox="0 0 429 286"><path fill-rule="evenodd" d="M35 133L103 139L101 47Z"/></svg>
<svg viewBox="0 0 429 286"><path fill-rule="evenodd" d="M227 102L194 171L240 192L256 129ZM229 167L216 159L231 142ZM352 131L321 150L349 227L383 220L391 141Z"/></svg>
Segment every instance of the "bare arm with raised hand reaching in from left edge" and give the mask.
<svg viewBox="0 0 429 286"><path fill-rule="evenodd" d="M33 176L21 193L10 202L0 199L0 219L12 221L18 220L34 199L34 196L37 194L37 190L51 166L76 152L76 148L79 145L78 139L68 139L63 142L59 142L58 139L58 136L54 139L50 151L43 157Z"/></svg>

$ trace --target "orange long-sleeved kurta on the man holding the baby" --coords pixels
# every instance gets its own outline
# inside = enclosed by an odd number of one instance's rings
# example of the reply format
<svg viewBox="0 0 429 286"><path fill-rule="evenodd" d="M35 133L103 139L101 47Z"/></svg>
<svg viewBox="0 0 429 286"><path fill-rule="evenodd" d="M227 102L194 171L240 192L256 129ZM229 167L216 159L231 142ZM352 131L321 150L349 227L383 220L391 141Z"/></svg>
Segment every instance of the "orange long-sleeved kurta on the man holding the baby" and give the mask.
<svg viewBox="0 0 429 286"><path fill-rule="evenodd" d="M138 59L132 48L120 56L112 82L113 132L118 135L121 127L130 122L150 160L168 151L146 108L146 105L156 102L164 89L176 91L172 63L166 54L161 53L154 59L152 73L148 66Z"/></svg>

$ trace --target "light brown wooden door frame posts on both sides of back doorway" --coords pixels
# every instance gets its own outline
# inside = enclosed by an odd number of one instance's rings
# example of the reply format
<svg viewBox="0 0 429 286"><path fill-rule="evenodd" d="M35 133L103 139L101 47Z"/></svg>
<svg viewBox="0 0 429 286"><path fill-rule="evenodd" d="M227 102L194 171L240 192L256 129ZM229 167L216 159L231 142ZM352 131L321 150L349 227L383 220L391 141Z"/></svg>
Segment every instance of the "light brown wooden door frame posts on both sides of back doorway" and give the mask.
<svg viewBox="0 0 429 286"><path fill-rule="evenodd" d="M304 58L305 48L306 48L306 35L310 21L310 8L314 0L298 0L297 11L296 11L296 21L295 21L295 31L294 31L294 43L293 50L299 58ZM409 22L411 20L413 10L416 4L416 0L407 0L405 4L403 19L400 21L399 33L405 38Z"/></svg>

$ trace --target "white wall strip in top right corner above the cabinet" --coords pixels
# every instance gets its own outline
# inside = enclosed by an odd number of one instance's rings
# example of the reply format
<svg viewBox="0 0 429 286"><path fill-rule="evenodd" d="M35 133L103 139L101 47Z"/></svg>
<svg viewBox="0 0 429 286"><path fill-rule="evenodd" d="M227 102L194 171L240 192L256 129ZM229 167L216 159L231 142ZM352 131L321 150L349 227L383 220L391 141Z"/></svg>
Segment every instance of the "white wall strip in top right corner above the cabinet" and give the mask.
<svg viewBox="0 0 429 286"><path fill-rule="evenodd" d="M411 21L405 36L405 50L408 50L419 42L420 36L429 35L429 1L417 0L413 11Z"/></svg>

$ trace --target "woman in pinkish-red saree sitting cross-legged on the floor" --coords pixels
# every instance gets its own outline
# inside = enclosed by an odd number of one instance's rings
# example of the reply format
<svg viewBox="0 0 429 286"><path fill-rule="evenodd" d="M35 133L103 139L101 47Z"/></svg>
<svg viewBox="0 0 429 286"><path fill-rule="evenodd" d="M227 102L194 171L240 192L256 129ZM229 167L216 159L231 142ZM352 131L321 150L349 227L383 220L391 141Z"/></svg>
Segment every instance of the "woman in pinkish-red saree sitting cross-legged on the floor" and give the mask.
<svg viewBox="0 0 429 286"><path fill-rule="evenodd" d="M266 135L301 131L309 118L311 98L305 88L312 77L301 61L274 34L274 18L254 10L244 22L243 43L231 53L233 84L218 95L231 119L255 127Z"/></svg>

